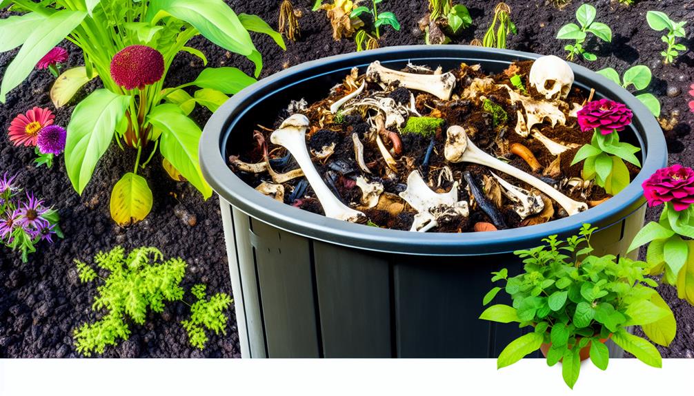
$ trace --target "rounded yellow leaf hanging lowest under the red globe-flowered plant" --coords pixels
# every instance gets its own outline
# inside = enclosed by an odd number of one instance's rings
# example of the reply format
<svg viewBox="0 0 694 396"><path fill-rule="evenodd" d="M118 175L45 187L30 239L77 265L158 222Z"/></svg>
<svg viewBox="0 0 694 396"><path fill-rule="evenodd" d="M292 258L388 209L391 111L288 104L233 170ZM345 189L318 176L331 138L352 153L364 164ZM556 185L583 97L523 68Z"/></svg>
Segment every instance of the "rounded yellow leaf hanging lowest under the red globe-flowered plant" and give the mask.
<svg viewBox="0 0 694 396"><path fill-rule="evenodd" d="M113 186L111 217L120 226L141 222L152 210L152 192L144 177L128 172Z"/></svg>

